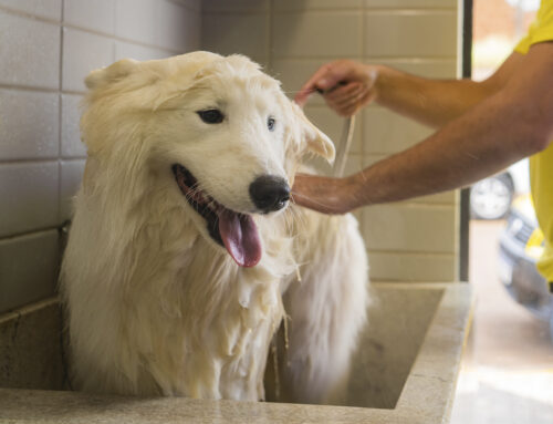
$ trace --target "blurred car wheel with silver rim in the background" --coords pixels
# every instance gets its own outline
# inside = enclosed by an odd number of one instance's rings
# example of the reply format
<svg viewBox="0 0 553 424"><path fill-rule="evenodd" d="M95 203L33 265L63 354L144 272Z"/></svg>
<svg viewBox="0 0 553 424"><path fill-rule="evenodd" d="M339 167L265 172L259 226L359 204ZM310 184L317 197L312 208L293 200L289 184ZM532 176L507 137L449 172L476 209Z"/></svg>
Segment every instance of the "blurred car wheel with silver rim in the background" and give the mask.
<svg viewBox="0 0 553 424"><path fill-rule="evenodd" d="M503 218L513 199L514 187L508 174L484 178L470 188L470 210L478 219Z"/></svg>

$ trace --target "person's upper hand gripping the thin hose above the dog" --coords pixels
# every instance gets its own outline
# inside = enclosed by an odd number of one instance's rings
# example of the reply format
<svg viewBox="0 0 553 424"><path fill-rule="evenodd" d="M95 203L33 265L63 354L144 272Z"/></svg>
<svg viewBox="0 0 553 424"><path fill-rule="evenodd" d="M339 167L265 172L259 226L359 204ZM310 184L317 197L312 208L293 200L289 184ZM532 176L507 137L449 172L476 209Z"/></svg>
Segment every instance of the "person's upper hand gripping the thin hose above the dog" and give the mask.
<svg viewBox="0 0 553 424"><path fill-rule="evenodd" d="M379 68L351 60L321 66L303 84L295 102L303 106L314 91L322 91L326 104L341 116L352 116L377 96Z"/></svg>

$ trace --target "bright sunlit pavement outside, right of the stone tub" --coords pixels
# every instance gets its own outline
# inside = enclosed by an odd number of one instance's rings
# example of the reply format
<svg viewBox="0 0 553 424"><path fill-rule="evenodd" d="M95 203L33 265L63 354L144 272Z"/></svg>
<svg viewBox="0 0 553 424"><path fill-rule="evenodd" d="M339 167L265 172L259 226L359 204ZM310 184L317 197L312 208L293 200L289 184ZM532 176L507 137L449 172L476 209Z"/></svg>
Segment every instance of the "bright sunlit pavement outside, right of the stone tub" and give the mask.
<svg viewBox="0 0 553 424"><path fill-rule="evenodd" d="M553 424L553 342L547 323L515 303L498 279L503 226L470 224L477 306L451 424Z"/></svg>

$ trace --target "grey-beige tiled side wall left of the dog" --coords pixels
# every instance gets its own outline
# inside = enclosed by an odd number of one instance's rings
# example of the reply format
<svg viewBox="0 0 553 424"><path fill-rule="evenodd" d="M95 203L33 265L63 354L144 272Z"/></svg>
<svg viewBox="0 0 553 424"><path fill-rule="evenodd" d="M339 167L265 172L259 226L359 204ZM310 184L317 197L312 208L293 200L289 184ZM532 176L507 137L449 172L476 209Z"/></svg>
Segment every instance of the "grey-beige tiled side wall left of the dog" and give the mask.
<svg viewBox="0 0 553 424"><path fill-rule="evenodd" d="M201 0L0 0L0 312L51 296L84 168L84 76L200 45Z"/></svg>

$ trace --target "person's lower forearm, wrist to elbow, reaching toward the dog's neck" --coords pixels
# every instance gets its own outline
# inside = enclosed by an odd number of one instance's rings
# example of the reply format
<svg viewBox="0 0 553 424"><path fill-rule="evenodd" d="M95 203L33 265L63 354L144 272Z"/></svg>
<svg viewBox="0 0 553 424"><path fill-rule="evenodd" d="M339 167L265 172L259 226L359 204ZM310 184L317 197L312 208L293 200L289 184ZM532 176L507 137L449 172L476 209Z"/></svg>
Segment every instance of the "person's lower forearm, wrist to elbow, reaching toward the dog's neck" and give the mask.
<svg viewBox="0 0 553 424"><path fill-rule="evenodd" d="M351 178L353 208L470 185L546 146L547 136L498 94L422 143Z"/></svg>

